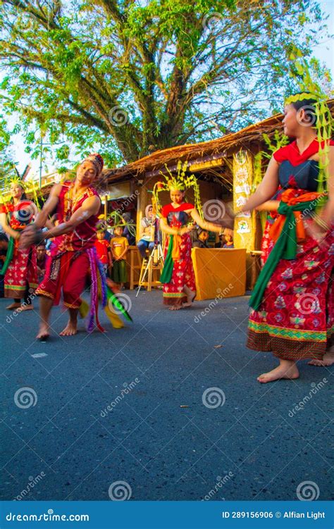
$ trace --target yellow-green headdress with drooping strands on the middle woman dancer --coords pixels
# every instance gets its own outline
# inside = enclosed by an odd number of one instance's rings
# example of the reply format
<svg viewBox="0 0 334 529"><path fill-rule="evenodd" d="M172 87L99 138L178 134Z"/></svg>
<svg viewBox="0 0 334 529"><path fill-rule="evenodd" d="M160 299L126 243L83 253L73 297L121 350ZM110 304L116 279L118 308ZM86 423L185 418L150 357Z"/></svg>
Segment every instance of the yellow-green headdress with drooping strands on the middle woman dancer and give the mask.
<svg viewBox="0 0 334 529"><path fill-rule="evenodd" d="M161 212L161 204L159 201L159 192L161 191L171 191L172 189L179 189L180 191L185 191L186 189L190 189L191 187L194 189L194 206L199 212L199 216L203 219L203 210L202 210L202 203L201 203L201 197L199 195L199 185L197 183L197 178L195 175L186 175L185 171L187 170L187 162L182 163L180 160L178 161L178 165L176 166L177 173L173 175L171 171L166 167L166 173L162 173L160 171L163 178L165 178L165 182L156 182L154 184L153 188L153 209L156 213Z"/></svg>

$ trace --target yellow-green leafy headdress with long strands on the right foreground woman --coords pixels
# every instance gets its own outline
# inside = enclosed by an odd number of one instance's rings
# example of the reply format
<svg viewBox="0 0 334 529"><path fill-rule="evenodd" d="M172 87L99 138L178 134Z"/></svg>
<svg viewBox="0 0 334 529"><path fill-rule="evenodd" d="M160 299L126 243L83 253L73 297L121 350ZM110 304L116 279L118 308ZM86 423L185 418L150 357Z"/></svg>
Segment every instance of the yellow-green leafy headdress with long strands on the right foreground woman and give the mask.
<svg viewBox="0 0 334 529"><path fill-rule="evenodd" d="M333 134L333 118L327 105L328 96L324 94L318 83L311 78L309 66L302 56L302 51L295 48L295 52L290 55L290 61L293 61L295 70L301 77L298 83L301 92L287 97L285 105L296 103L297 101L312 101L309 106L305 106L304 110L309 117L313 117L310 123L316 130L316 139L319 142L318 192L322 193L325 190L324 182L326 181L329 165L329 140ZM310 116L311 111L313 111L313 116Z"/></svg>

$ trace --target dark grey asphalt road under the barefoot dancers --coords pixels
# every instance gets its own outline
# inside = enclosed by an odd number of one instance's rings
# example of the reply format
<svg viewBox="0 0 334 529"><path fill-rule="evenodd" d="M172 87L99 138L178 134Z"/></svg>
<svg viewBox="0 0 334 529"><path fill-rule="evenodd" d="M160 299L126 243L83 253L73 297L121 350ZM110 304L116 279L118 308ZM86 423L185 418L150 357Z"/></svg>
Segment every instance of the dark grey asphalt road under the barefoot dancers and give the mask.
<svg viewBox="0 0 334 529"><path fill-rule="evenodd" d="M125 294L126 328L59 337L57 307L44 344L0 299L1 499L330 499L333 369L261 385L277 361L245 347L247 297Z"/></svg>

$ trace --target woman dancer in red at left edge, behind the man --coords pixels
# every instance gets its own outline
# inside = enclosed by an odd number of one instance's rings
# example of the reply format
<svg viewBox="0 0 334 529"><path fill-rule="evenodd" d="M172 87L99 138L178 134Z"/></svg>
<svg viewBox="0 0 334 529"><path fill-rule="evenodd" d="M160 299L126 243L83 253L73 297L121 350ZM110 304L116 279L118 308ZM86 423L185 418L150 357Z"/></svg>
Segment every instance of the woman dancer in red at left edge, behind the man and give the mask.
<svg viewBox="0 0 334 529"><path fill-rule="evenodd" d="M35 204L27 200L19 182L11 185L11 201L0 206L0 224L10 237L7 258L4 263L5 297L14 299L8 310L32 310L32 294L37 288L37 254L35 245L27 249L18 246L22 230L33 222L37 215ZM24 303L21 304L21 299Z"/></svg>

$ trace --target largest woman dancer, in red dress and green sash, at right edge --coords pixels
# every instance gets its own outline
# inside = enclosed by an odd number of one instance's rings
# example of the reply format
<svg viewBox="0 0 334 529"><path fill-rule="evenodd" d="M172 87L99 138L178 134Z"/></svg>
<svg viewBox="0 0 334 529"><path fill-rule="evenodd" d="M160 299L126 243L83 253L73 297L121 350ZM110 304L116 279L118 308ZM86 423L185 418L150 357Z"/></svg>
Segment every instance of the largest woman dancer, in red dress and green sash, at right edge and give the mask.
<svg viewBox="0 0 334 529"><path fill-rule="evenodd" d="M264 180L242 207L255 209L273 197L279 185L283 189L270 232L275 244L250 300L247 346L272 351L280 362L259 376L264 383L298 378L300 359L312 359L313 365L333 363L334 142L318 141L317 104L305 93L287 101L284 132L295 141L273 154ZM328 194L318 188L320 170ZM319 209L323 199L326 204Z"/></svg>

